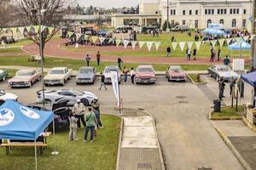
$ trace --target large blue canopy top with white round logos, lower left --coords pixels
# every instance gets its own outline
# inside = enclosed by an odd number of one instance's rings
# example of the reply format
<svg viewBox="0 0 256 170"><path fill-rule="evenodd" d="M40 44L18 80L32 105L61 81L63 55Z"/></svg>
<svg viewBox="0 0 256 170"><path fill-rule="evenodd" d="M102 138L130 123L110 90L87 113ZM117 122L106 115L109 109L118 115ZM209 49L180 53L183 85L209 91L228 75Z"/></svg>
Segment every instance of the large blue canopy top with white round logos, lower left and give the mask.
<svg viewBox="0 0 256 170"><path fill-rule="evenodd" d="M52 111L33 110L7 100L0 106L0 139L38 139L53 119Z"/></svg>

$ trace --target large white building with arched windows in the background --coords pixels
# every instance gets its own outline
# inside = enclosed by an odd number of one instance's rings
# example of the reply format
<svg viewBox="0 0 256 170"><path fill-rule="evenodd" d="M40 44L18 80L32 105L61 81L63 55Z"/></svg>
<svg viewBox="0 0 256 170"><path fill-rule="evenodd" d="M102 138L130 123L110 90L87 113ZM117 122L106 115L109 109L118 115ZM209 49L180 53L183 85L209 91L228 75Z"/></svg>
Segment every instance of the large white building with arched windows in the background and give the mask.
<svg viewBox="0 0 256 170"><path fill-rule="evenodd" d="M167 13L167 8L169 8ZM140 26L167 20L172 26L176 22L190 28L204 29L210 23L224 24L225 28L247 28L251 30L250 16L253 0L140 0L139 14L113 14L112 25L124 26L131 20Z"/></svg>

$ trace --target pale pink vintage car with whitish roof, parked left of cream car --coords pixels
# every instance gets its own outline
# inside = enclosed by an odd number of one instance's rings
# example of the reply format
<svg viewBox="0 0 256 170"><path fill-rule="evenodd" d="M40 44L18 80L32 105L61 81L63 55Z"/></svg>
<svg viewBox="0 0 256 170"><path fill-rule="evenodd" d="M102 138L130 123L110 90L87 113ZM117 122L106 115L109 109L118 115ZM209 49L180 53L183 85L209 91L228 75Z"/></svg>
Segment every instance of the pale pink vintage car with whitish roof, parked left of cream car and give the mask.
<svg viewBox="0 0 256 170"><path fill-rule="evenodd" d="M8 81L8 86L11 88L32 87L34 82L37 82L41 77L41 71L35 69L24 69L16 72L15 77Z"/></svg>

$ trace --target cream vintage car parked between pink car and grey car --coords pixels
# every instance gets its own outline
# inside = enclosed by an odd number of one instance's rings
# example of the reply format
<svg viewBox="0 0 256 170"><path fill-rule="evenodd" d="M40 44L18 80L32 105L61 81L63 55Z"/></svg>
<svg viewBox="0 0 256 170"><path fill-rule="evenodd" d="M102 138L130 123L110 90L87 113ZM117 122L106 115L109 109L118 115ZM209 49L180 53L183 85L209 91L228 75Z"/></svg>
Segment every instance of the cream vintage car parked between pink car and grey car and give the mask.
<svg viewBox="0 0 256 170"><path fill-rule="evenodd" d="M64 86L65 82L71 79L72 71L72 69L67 69L67 67L52 68L44 77L44 84L46 86L55 84L61 84L62 86Z"/></svg>

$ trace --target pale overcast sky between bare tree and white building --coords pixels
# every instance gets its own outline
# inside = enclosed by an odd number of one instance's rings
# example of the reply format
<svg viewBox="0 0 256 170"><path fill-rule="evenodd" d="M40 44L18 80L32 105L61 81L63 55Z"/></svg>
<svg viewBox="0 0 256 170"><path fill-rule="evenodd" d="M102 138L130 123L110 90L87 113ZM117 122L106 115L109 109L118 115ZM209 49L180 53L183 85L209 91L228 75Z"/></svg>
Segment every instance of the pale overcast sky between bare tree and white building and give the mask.
<svg viewBox="0 0 256 170"><path fill-rule="evenodd" d="M81 5L89 7L90 5L104 8L117 7L135 7L139 0L79 0Z"/></svg>

